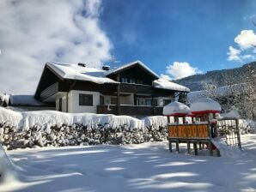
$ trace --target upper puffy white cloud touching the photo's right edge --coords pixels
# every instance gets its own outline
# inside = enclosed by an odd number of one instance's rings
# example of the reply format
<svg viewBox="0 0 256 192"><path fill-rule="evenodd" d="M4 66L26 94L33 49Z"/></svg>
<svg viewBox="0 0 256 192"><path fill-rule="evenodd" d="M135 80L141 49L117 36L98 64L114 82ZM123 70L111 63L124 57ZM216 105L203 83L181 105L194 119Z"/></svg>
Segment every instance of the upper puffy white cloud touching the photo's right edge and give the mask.
<svg viewBox="0 0 256 192"><path fill-rule="evenodd" d="M243 30L235 38L235 43L237 43L241 50L247 50L256 46L256 34L253 30Z"/></svg>

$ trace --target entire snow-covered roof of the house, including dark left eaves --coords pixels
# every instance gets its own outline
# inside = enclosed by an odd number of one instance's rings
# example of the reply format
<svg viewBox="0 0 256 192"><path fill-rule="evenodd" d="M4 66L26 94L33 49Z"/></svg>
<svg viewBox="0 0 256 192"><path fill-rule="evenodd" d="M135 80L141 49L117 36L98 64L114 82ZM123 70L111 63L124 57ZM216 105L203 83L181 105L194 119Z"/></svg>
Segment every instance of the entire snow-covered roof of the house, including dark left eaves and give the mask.
<svg viewBox="0 0 256 192"><path fill-rule="evenodd" d="M95 89L97 91L101 89L101 85L108 84L107 87L104 87L106 91L108 86L113 87L113 85L120 83L119 81L116 81L115 75L125 72L125 70L129 70L127 74L131 73L131 71L132 73L139 71L139 73L141 73L140 75L143 76L142 78L145 78L146 82L143 80L145 85L166 89L168 91L190 91L187 87L159 79L158 75L156 75L154 71L149 69L140 61L127 63L117 69L107 69L108 68L106 66L104 69L92 68L84 63L69 64L47 62L40 77L40 81L35 92L35 98L43 98L43 100L47 99L54 95L57 89L59 92L69 92L71 88L76 86L76 88L80 90L82 89L83 83L88 84L87 88ZM139 78L141 78L141 76L139 76ZM76 84L77 81L78 83ZM98 84L99 86L93 85L93 83ZM43 94L41 95L41 93Z"/></svg>

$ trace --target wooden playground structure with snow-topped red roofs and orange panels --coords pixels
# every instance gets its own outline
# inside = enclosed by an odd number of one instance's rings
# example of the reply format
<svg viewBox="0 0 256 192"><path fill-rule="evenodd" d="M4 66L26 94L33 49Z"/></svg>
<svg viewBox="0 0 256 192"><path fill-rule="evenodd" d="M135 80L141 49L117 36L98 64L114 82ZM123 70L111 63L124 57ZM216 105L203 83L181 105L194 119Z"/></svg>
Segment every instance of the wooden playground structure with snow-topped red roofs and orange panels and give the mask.
<svg viewBox="0 0 256 192"><path fill-rule="evenodd" d="M180 152L180 143L186 143L187 152L191 153L191 144L195 155L198 150L209 150L210 156L220 156L220 151L214 145L213 139L222 136L227 145L238 145L241 140L238 119L220 118L221 106L212 99L199 99L188 107L179 102L172 102L163 109L168 117L169 150ZM174 123L170 123L174 117ZM215 152L215 153L214 153Z"/></svg>

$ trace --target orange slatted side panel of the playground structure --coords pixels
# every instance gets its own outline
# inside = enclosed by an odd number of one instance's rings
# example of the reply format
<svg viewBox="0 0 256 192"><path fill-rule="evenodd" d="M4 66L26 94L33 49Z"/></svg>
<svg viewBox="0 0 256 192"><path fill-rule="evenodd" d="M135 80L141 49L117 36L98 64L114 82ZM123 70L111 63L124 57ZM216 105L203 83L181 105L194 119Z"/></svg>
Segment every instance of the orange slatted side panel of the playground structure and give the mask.
<svg viewBox="0 0 256 192"><path fill-rule="evenodd" d="M169 125L169 138L209 138L208 124L180 124Z"/></svg>

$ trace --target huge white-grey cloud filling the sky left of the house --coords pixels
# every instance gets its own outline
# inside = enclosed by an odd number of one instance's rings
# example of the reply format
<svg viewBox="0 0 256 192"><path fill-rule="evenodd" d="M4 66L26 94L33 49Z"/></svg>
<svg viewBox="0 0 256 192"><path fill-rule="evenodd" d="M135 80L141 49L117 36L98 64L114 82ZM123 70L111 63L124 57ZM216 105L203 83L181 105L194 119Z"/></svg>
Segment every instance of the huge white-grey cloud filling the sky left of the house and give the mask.
<svg viewBox="0 0 256 192"><path fill-rule="evenodd" d="M34 93L47 61L100 67L112 48L100 14L100 0L0 1L0 93Z"/></svg>

